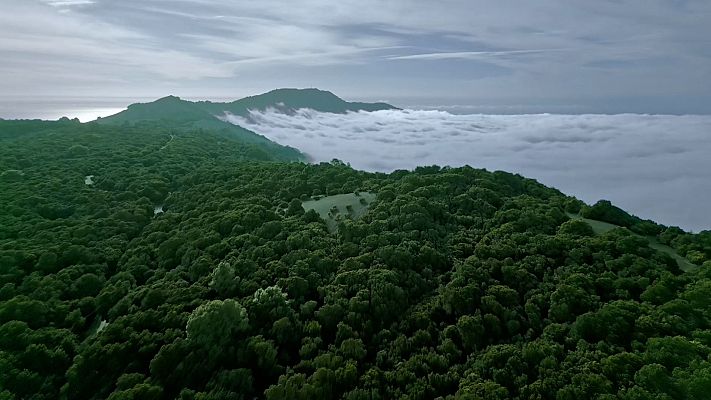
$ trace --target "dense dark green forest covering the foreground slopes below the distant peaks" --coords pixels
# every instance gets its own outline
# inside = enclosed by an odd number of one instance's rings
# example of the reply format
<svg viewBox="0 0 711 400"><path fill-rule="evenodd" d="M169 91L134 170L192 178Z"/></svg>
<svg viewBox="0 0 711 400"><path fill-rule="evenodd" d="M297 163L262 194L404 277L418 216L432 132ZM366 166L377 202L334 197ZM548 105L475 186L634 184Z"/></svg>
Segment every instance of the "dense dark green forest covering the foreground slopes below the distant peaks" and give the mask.
<svg viewBox="0 0 711 400"><path fill-rule="evenodd" d="M709 398L711 231L502 171L302 160L0 120L0 399ZM367 210L302 206L344 194Z"/></svg>

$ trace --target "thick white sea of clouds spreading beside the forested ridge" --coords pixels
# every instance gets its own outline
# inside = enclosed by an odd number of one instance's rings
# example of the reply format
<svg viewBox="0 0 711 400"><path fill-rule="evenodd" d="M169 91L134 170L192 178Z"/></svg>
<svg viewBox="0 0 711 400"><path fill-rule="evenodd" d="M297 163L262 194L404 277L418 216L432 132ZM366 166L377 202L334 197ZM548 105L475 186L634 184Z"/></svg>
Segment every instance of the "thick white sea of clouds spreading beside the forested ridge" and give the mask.
<svg viewBox="0 0 711 400"><path fill-rule="evenodd" d="M432 164L515 172L588 203L609 199L641 218L711 229L711 116L302 109L227 119L316 162L337 158L382 172Z"/></svg>

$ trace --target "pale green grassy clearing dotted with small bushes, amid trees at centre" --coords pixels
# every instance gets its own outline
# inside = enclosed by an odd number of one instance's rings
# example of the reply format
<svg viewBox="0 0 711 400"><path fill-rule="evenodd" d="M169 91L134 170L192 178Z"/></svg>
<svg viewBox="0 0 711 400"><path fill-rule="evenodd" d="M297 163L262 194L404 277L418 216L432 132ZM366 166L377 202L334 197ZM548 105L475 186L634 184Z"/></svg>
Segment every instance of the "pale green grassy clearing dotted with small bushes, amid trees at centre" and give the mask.
<svg viewBox="0 0 711 400"><path fill-rule="evenodd" d="M328 230L335 232L338 221L344 218L358 219L368 211L370 203L375 200L375 194L370 192L336 194L317 200L307 200L301 203L304 210L314 210L326 221Z"/></svg>

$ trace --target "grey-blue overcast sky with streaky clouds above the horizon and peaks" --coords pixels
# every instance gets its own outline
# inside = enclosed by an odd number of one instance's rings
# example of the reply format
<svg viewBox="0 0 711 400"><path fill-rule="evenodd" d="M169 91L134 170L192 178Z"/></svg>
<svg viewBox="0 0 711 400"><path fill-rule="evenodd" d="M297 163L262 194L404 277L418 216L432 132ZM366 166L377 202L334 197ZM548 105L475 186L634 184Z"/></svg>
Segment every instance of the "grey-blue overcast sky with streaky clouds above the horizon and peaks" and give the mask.
<svg viewBox="0 0 711 400"><path fill-rule="evenodd" d="M711 112L708 0L2 0L0 96Z"/></svg>

